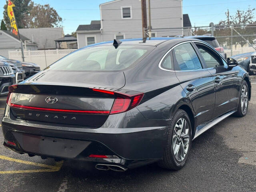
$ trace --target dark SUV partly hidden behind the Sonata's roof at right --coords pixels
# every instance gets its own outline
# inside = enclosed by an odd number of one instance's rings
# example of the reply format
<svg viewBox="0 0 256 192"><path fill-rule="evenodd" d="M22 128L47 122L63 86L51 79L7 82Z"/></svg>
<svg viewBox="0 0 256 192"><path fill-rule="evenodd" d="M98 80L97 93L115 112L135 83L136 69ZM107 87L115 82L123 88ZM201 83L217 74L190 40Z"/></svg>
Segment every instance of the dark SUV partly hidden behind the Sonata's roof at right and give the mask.
<svg viewBox="0 0 256 192"><path fill-rule="evenodd" d="M194 38L194 39L200 39L208 43L210 46L212 46L216 51L218 51L224 58L226 58L224 54L224 48L220 46L219 42L216 40L214 36L208 36L208 35L200 35L200 36L186 36L184 38Z"/></svg>

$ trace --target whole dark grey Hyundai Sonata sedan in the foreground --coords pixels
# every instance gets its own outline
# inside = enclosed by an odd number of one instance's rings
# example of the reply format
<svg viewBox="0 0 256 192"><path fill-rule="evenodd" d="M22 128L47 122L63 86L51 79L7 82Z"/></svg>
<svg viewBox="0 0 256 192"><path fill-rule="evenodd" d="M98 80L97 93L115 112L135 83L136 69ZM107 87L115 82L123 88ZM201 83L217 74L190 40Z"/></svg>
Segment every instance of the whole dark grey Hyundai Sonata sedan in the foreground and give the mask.
<svg viewBox="0 0 256 192"><path fill-rule="evenodd" d="M4 146L100 170L180 169L193 139L246 115L250 78L236 65L197 39L87 46L9 87Z"/></svg>

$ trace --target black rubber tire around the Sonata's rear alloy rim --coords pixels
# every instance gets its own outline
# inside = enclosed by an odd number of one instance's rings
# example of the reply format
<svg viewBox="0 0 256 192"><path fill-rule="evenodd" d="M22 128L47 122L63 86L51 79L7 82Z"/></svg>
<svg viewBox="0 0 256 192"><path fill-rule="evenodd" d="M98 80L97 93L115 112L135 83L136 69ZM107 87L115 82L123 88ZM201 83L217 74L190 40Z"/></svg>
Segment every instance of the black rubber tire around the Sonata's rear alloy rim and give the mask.
<svg viewBox="0 0 256 192"><path fill-rule="evenodd" d="M174 134L174 128L176 123L180 118L184 118L188 124L189 129L189 142L188 142L188 151L186 153L186 156L182 161L178 161L176 157L174 156L174 150L173 150L173 134ZM188 117L188 114L184 110L177 110L177 112L172 116L170 127L167 133L167 143L164 147L164 155L163 159L158 162L158 165L162 168L170 169L170 170L179 170L186 164L186 160L188 159L190 148L191 148L191 123L190 119Z"/></svg>

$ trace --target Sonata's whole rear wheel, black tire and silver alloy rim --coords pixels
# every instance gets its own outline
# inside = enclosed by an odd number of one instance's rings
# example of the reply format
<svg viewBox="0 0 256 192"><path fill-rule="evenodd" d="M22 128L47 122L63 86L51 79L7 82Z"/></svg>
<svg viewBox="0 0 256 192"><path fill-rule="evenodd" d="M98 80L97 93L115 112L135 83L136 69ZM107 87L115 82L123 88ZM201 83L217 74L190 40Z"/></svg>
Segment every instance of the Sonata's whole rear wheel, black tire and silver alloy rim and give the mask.
<svg viewBox="0 0 256 192"><path fill-rule="evenodd" d="M178 170L186 164L191 148L191 123L184 110L178 110L170 124L163 159L158 163L166 169Z"/></svg>

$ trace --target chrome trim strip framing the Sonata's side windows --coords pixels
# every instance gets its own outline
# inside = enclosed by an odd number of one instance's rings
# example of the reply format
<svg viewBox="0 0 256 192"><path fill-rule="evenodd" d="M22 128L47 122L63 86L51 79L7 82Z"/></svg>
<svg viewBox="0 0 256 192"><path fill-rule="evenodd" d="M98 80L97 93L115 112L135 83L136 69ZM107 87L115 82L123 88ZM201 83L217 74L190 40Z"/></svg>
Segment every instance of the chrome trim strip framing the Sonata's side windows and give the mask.
<svg viewBox="0 0 256 192"><path fill-rule="evenodd" d="M161 70L164 70L164 71L170 71L170 72L186 72L186 71L199 71L199 70L207 70L207 69L210 69L210 68L202 68L202 69L196 69L196 70L168 70L168 69L165 69L165 68L162 68L162 62L164 60L164 58L174 49L176 48L177 46L179 45L182 45L182 44L185 44L185 43L192 43L192 42L196 42L196 43L201 43L201 44L205 44L206 46L210 47L215 53L217 53L221 58L223 58L225 61L226 59L218 52L216 51L212 46L210 46L209 44L205 43L205 42L201 42L201 41L196 41L196 40L193 40L193 41L185 41L185 42L181 42L181 43L178 43L176 44L175 46L173 46L172 48L170 48L166 54L164 54L164 56L162 57L162 59L160 60L159 64L158 64L158 67L161 69ZM225 66L225 65L224 65ZM221 66L218 66L218 67L221 67ZM212 67L211 67L212 68ZM214 67L214 68L217 68L217 67Z"/></svg>

